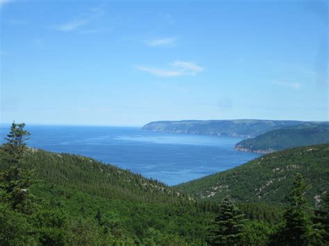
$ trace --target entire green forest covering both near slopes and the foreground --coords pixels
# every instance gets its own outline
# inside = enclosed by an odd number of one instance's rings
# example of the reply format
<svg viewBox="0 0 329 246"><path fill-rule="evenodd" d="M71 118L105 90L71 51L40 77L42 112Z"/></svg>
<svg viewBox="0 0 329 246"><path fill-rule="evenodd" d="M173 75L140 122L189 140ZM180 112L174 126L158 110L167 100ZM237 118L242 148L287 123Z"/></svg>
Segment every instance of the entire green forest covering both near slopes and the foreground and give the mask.
<svg viewBox="0 0 329 246"><path fill-rule="evenodd" d="M328 144L171 187L88 157L30 148L24 127L12 123L0 148L0 245L329 243ZM251 196L270 179L271 191ZM225 185L215 195L206 191L219 181Z"/></svg>

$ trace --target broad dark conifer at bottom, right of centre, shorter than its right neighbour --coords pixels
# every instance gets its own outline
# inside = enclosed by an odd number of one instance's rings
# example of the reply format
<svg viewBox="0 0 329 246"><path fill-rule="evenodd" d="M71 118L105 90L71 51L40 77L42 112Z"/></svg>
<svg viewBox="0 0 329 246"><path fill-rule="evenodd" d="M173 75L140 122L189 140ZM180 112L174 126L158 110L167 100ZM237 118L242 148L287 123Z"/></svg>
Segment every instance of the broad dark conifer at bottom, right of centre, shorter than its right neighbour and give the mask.
<svg viewBox="0 0 329 246"><path fill-rule="evenodd" d="M210 245L240 245L242 229L244 227L244 214L235 206L233 200L226 196L221 202L221 211L214 218L210 229Z"/></svg>

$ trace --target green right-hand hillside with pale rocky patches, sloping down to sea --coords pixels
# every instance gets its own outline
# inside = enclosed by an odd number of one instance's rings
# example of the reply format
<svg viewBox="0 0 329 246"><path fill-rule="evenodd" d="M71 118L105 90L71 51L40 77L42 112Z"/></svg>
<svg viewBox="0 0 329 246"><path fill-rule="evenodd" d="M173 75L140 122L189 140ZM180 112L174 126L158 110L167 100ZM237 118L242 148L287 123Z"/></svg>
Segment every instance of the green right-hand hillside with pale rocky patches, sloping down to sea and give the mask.
<svg viewBox="0 0 329 246"><path fill-rule="evenodd" d="M244 202L285 203L296 173L310 184L307 199L312 204L318 202L329 188L329 144L274 152L176 188L199 200L220 201L230 194Z"/></svg>

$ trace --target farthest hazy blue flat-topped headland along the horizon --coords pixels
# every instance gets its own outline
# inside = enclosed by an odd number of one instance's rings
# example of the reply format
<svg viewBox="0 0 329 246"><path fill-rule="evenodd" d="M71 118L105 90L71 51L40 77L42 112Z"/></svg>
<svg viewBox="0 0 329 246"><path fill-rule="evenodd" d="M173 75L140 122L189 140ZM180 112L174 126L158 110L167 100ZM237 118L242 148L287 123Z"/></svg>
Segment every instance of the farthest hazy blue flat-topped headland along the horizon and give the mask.
<svg viewBox="0 0 329 246"><path fill-rule="evenodd" d="M270 130L290 125L298 125L300 123L301 121L268 121L252 119L218 121L154 121L144 125L142 130L250 138Z"/></svg>

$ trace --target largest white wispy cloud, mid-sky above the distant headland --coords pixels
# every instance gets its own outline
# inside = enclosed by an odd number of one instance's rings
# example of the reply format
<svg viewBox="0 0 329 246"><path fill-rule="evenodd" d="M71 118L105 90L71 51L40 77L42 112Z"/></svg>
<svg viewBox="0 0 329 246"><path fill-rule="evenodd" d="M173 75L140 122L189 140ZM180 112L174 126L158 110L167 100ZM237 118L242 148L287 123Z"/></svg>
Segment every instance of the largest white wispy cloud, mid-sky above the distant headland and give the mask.
<svg viewBox="0 0 329 246"><path fill-rule="evenodd" d="M171 62L170 66L171 69L158 69L144 66L137 66L136 68L160 77L195 76L203 70L202 67L199 67L193 62L185 62L180 60Z"/></svg>

